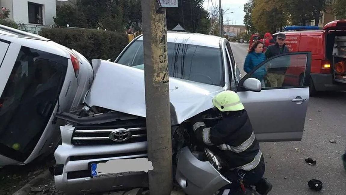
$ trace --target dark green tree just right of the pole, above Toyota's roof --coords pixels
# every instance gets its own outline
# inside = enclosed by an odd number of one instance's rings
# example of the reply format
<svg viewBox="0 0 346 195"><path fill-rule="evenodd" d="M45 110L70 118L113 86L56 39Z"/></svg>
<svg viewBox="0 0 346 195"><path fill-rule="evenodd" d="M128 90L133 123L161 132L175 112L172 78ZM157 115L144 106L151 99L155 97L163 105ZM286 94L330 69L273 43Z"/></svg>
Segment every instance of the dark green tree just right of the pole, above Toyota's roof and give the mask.
<svg viewBox="0 0 346 195"><path fill-rule="evenodd" d="M208 34L209 13L203 7L204 0L178 0L178 8L166 8L167 28L180 24L193 33Z"/></svg>

